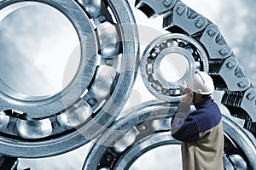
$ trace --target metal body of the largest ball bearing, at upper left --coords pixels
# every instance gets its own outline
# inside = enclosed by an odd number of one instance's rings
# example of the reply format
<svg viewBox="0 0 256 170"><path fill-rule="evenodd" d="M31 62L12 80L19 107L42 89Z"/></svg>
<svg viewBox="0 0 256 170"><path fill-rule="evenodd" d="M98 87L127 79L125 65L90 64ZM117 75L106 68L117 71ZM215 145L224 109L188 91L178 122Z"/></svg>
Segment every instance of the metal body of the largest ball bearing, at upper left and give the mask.
<svg viewBox="0 0 256 170"><path fill-rule="evenodd" d="M54 156L95 139L118 116L137 73L137 29L126 1L3 0L1 21L34 6L70 22L79 64L72 78L64 75L63 89L47 95L20 92L1 76L0 152L8 156Z"/></svg>

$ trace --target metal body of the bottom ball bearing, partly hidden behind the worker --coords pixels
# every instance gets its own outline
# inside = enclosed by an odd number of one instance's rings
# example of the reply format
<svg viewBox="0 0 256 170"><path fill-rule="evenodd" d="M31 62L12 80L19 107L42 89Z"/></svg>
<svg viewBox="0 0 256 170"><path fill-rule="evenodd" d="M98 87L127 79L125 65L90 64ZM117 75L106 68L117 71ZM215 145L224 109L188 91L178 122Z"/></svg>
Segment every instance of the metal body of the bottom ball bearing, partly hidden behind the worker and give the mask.
<svg viewBox="0 0 256 170"><path fill-rule="evenodd" d="M128 111L91 147L84 169L129 169L138 157L154 148L180 144L172 138L171 119L178 104L148 101ZM255 169L255 143L245 131L223 117L225 169Z"/></svg>

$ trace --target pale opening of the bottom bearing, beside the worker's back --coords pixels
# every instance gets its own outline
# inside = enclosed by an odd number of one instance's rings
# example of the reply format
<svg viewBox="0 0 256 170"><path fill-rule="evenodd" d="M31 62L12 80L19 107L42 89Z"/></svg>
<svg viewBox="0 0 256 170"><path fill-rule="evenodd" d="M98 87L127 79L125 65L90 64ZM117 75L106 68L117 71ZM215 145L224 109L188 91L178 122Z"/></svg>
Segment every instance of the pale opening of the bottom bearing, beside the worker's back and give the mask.
<svg viewBox="0 0 256 170"><path fill-rule="evenodd" d="M180 145L162 145L144 153L129 168L143 169L182 169Z"/></svg>

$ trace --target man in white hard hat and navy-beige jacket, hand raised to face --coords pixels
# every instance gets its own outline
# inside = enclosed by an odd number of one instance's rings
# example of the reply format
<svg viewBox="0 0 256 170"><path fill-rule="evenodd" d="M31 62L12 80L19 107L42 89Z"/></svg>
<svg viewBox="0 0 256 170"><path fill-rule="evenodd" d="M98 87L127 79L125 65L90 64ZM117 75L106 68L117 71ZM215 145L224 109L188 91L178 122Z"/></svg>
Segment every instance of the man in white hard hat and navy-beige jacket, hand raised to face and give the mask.
<svg viewBox="0 0 256 170"><path fill-rule="evenodd" d="M172 137L183 141L183 170L224 169L224 132L221 112L211 98L212 77L198 71L181 90L187 94L172 117ZM192 103L196 110L190 112Z"/></svg>

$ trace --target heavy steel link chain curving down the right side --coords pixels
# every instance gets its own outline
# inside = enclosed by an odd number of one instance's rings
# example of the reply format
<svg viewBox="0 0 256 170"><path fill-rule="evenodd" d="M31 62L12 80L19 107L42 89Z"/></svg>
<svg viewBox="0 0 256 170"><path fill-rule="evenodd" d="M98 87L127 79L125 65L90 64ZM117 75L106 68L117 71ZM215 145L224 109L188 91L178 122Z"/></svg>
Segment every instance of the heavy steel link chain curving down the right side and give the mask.
<svg viewBox="0 0 256 170"><path fill-rule="evenodd" d="M171 33L183 33L201 43L208 56L208 73L212 76L216 89L224 91L222 104L230 110L231 115L246 120L244 127L255 136L256 99L253 85L241 70L218 26L178 0L168 1L172 6L165 8L163 13L159 8L165 2L137 0L136 7L149 17L164 15L164 29ZM146 10L149 7L150 10Z"/></svg>

